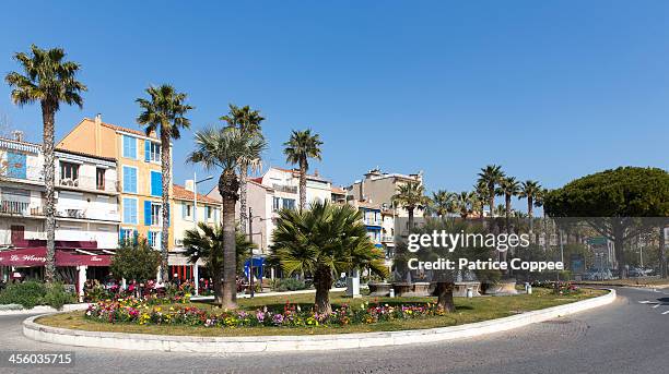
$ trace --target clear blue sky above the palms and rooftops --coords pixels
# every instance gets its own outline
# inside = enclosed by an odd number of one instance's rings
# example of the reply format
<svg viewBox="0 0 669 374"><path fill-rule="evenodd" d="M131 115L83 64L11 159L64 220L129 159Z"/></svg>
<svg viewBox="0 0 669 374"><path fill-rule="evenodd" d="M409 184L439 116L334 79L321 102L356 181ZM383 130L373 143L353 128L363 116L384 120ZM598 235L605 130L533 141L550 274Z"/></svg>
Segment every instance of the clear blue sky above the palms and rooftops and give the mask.
<svg viewBox="0 0 669 374"><path fill-rule="evenodd" d="M478 169L556 188L621 165L669 169L666 1L7 1L0 72L13 52L66 48L82 64L82 117L136 128L134 99L172 83L196 106L193 130L227 104L267 117L266 166L312 128L313 168L348 184L368 169L424 170L427 188L470 189ZM19 16L21 15L21 16ZM39 106L0 114L40 141ZM175 143L175 181L192 133Z"/></svg>

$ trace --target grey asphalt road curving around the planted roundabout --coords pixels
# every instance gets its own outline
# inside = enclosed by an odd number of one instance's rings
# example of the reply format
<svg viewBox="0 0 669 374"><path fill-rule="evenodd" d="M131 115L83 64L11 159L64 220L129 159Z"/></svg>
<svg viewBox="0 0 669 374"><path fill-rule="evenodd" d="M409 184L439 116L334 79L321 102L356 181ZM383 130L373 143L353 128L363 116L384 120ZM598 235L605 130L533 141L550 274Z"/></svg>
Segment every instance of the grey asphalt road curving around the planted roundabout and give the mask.
<svg viewBox="0 0 669 374"><path fill-rule="evenodd" d="M618 289L594 311L459 341L305 353L192 354L42 343L0 316L0 350L70 350L72 369L0 373L669 373L669 290Z"/></svg>

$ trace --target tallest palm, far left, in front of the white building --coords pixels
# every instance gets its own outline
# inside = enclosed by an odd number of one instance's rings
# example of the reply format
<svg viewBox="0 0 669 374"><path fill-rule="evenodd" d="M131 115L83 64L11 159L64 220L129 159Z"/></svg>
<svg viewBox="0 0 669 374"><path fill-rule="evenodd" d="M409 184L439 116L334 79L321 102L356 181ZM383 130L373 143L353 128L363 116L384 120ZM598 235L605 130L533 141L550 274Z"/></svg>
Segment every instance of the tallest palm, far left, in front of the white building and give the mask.
<svg viewBox="0 0 669 374"><path fill-rule="evenodd" d="M56 183L56 159L54 155L54 133L56 112L60 104L83 106L81 93L86 86L77 81L80 64L64 60L61 48L42 49L31 46L31 53L17 52L14 59L23 69L23 74L10 72L4 81L12 87L11 98L15 105L24 106L39 101L42 105L45 216L47 232L47 261L45 280L54 281L56 274L56 212L54 185Z"/></svg>

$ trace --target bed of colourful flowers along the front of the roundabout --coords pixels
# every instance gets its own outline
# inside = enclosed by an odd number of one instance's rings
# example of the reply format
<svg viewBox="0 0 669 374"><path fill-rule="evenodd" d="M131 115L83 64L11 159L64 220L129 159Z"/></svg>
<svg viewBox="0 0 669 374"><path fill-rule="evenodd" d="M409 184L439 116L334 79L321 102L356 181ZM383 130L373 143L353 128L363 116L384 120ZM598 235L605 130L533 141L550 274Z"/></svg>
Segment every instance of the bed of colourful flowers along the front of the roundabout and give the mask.
<svg viewBox="0 0 669 374"><path fill-rule="evenodd" d="M301 310L300 305L286 303L283 311L269 311L267 307L254 312L222 311L208 312L197 306L150 305L145 300L119 299L91 304L85 317L105 323L131 323L138 325L187 325L204 327L244 326L347 326L351 324L374 324L378 322L412 319L445 315L442 307L434 303L407 305L369 304L360 307L341 305L332 313L324 314Z"/></svg>

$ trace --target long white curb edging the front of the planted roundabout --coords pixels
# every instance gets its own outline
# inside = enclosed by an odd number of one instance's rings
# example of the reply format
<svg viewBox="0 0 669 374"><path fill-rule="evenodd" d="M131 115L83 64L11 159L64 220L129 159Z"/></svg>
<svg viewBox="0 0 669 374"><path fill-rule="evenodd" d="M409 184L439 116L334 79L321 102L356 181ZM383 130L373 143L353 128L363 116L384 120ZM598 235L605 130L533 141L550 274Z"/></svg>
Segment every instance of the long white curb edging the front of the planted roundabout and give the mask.
<svg viewBox="0 0 669 374"><path fill-rule="evenodd" d="M249 353L334 350L469 338L574 314L609 304L613 300L615 300L615 291L609 290L606 295L504 318L451 327L387 333L254 337L162 336L49 327L35 323L35 318L39 316L34 316L23 322L23 335L37 341L58 345L166 352Z"/></svg>

